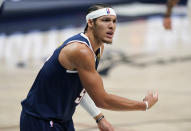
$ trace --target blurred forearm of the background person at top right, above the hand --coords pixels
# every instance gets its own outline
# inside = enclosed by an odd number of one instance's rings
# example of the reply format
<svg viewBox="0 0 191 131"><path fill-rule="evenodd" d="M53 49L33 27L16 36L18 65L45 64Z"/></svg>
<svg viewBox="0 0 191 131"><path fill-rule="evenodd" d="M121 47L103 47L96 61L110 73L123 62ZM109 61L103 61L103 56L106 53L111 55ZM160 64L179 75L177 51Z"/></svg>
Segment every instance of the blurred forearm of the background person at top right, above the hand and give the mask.
<svg viewBox="0 0 191 131"><path fill-rule="evenodd" d="M167 0L167 10L165 17L170 17L172 14L172 8L179 2L179 0Z"/></svg>

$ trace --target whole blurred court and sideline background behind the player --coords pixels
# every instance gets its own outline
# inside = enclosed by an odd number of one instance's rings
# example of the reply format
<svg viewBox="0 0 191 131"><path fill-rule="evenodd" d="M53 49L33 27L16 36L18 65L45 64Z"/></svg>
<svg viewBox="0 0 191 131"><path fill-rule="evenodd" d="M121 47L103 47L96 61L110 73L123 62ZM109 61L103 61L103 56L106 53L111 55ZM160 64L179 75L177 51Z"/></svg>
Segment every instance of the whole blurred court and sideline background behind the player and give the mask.
<svg viewBox="0 0 191 131"><path fill-rule="evenodd" d="M0 131L19 131L20 102L39 69L68 37L83 32L87 8L111 4L118 15L112 46L99 72L105 89L142 100L159 92L147 112L101 111L116 131L191 131L191 1L173 8L163 27L166 0L0 0ZM80 106L76 131L98 131Z"/></svg>

